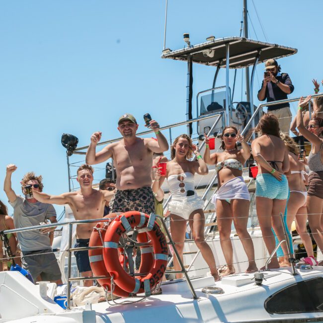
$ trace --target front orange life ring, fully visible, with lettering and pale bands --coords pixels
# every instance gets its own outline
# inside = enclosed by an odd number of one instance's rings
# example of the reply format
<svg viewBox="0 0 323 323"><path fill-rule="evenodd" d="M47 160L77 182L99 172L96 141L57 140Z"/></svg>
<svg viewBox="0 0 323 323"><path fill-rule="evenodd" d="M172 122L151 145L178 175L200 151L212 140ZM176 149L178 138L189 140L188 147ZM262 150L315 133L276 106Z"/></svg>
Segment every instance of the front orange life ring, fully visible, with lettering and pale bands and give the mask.
<svg viewBox="0 0 323 323"><path fill-rule="evenodd" d="M126 273L118 261L119 239L122 234L130 232L135 227L146 230L154 248L154 263L150 266L148 273L139 278L132 277ZM149 246L145 246L145 248L149 248ZM142 257L145 257L146 254L149 253L144 252ZM147 214L138 211L125 212L112 221L105 233L103 259L106 269L111 276L113 275L116 285L128 293L143 293L148 287L152 290L164 274L167 258L167 242L159 225L155 222L153 214L149 217ZM143 267L145 269L148 267L144 258L142 258L141 269Z"/></svg>

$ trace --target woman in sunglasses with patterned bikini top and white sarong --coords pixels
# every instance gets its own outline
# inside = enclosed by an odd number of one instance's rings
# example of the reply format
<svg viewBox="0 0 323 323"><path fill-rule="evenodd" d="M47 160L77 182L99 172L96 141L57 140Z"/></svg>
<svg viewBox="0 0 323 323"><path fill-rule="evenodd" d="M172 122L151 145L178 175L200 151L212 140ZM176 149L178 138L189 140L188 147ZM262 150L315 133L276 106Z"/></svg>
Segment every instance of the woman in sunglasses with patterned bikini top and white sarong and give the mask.
<svg viewBox="0 0 323 323"><path fill-rule="evenodd" d="M240 151L237 149L238 140L242 144ZM256 271L253 243L247 231L250 196L242 177L242 165L250 157L250 148L236 127L224 128L221 146L223 153L210 155L208 143L209 138L206 137L204 160L210 165L215 164L215 170L218 173L218 191L213 196L212 202L216 207L220 242L227 262L227 269L221 273L221 276L235 273L230 239L232 221L248 257L249 264L246 272Z"/></svg>

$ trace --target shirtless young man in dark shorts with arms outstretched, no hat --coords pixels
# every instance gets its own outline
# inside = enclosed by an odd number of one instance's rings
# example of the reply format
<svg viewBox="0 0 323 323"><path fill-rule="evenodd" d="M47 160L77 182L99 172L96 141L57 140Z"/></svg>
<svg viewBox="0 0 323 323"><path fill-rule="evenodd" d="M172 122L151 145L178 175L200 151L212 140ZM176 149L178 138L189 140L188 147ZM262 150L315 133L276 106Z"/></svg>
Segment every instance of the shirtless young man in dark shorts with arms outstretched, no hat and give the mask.
<svg viewBox="0 0 323 323"><path fill-rule="evenodd" d="M77 171L77 181L81 189L76 192L63 193L61 195L49 195L33 189L34 197L43 203L70 205L76 220L101 219L105 203L110 201L113 192L96 190L92 188L93 168L89 165L81 165ZM77 226L77 243L75 247L87 247L93 231L94 224L86 223ZM88 258L88 251L74 252L78 269L83 277L93 276ZM92 286L92 280L85 280L84 286Z"/></svg>

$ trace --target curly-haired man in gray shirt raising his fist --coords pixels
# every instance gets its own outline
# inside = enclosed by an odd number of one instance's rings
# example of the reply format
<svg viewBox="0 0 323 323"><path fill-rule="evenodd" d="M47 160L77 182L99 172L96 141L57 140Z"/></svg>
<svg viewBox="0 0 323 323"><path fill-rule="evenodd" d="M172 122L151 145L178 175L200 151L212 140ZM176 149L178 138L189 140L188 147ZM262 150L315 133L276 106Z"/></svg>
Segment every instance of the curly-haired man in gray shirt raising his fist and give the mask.
<svg viewBox="0 0 323 323"><path fill-rule="evenodd" d="M57 222L56 211L51 204L38 202L35 198L17 196L11 188L11 175L17 169L14 164L6 168L4 179L4 192L13 207L13 222L16 229L38 226L41 222ZM42 177L35 176L33 172L24 175L22 181L22 192L24 186L32 185L37 191L42 191ZM49 280L62 284L61 271L58 266L54 252L52 251L49 233L54 228L44 228L18 232L17 238L22 252L22 266L27 269L34 281Z"/></svg>

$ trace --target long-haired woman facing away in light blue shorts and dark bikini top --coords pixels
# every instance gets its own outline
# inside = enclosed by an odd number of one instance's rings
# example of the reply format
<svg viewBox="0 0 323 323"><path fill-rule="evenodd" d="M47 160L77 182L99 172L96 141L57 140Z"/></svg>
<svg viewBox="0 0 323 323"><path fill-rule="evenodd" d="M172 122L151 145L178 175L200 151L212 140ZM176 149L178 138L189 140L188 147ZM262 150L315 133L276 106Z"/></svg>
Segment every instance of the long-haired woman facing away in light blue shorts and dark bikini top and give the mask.
<svg viewBox="0 0 323 323"><path fill-rule="evenodd" d="M258 164L256 210L262 238L271 254L275 249L271 227L279 241L284 239L279 214L284 214L288 197L288 181L284 173L289 171L289 158L284 141L280 139L276 116L265 113L259 121L257 131L261 132L261 136L251 144L252 155ZM281 247L287 255L286 243L282 243ZM271 259L269 268L279 268L277 257Z"/></svg>

